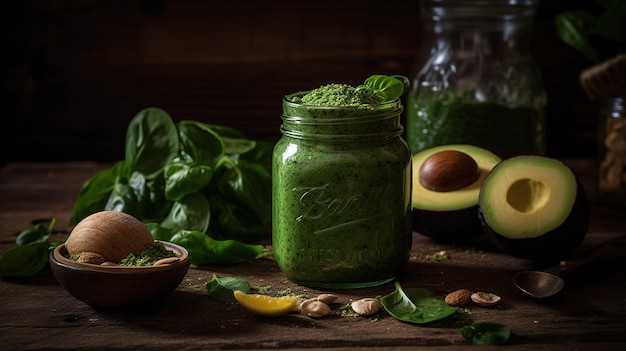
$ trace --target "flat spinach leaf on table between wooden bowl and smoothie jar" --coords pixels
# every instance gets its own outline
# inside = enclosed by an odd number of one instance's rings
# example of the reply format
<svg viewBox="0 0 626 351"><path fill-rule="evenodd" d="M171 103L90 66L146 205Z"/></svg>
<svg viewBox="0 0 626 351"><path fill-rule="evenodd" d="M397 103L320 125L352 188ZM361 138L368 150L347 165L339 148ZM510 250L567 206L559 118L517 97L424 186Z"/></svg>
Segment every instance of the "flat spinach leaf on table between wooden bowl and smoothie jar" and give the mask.
<svg viewBox="0 0 626 351"><path fill-rule="evenodd" d="M189 251L191 264L232 264L256 259L263 252L263 245L248 245L236 240L215 240L199 231L179 230L171 242Z"/></svg>

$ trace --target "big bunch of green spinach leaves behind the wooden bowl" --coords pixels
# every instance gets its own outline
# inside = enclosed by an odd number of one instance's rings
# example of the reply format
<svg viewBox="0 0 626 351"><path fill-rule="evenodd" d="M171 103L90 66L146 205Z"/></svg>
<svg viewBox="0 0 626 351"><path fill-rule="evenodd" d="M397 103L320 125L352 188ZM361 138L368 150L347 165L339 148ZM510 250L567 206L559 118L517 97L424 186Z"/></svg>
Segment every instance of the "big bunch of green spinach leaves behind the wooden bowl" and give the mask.
<svg viewBox="0 0 626 351"><path fill-rule="evenodd" d="M193 264L253 259L263 248L251 243L271 223L272 149L234 128L175 123L146 108L128 126L125 158L83 184L71 221L125 212L156 239L183 245Z"/></svg>

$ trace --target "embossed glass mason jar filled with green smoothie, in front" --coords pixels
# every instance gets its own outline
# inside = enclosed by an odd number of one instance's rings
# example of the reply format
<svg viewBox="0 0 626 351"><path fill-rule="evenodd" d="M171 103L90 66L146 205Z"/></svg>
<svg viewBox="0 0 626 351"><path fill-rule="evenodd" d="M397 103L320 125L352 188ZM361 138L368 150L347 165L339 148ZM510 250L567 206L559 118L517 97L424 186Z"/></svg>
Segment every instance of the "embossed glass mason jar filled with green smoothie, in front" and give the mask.
<svg viewBox="0 0 626 351"><path fill-rule="evenodd" d="M293 95L283 99L272 165L278 266L316 288L394 280L412 241L411 153L400 101L320 107L291 102Z"/></svg>

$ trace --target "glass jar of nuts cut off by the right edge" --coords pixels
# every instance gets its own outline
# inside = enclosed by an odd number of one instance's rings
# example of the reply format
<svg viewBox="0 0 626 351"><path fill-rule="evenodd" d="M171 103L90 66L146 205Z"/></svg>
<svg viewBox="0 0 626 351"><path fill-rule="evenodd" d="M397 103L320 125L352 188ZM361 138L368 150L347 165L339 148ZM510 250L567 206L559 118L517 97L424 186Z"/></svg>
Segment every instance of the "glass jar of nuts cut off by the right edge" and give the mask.
<svg viewBox="0 0 626 351"><path fill-rule="evenodd" d="M626 208L626 101L612 98L600 106L600 169L598 198L603 204Z"/></svg>

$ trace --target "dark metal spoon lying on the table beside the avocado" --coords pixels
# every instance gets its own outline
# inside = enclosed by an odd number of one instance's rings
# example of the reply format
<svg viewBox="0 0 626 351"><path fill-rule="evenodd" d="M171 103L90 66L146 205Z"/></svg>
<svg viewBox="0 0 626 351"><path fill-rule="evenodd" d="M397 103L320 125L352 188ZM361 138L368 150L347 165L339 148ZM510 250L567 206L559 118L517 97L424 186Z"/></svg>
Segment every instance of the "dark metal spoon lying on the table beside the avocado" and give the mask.
<svg viewBox="0 0 626 351"><path fill-rule="evenodd" d="M513 277L513 282L523 293L537 299L556 295L565 285L563 279L558 276L559 273L589 263L609 251L612 251L615 248L615 245L612 245L614 241L615 240L609 240L577 260L561 261L558 265L543 271L519 272Z"/></svg>

